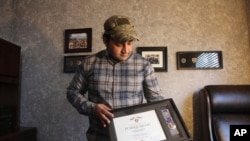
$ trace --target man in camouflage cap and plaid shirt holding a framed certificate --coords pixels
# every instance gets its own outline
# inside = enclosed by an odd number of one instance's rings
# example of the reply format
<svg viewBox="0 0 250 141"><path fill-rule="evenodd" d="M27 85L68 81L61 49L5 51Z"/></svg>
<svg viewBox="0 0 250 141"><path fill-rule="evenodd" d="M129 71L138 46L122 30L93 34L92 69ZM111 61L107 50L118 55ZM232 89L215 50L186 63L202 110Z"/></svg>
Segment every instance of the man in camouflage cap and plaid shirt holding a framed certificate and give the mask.
<svg viewBox="0 0 250 141"><path fill-rule="evenodd" d="M86 57L67 89L68 101L80 114L89 116L89 141L108 141L111 109L163 99L154 69L133 53L138 40L131 20L115 15L104 23L105 50Z"/></svg>

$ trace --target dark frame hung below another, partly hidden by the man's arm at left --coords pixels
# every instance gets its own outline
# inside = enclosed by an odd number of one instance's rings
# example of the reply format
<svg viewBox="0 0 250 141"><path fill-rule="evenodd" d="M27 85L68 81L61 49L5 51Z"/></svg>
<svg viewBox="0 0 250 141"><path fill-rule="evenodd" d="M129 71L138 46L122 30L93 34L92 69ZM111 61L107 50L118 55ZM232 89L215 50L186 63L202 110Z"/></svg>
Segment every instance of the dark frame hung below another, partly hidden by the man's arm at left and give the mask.
<svg viewBox="0 0 250 141"><path fill-rule="evenodd" d="M88 55L78 55L78 56L64 56L64 73L75 73L77 66L80 65L82 60Z"/></svg>

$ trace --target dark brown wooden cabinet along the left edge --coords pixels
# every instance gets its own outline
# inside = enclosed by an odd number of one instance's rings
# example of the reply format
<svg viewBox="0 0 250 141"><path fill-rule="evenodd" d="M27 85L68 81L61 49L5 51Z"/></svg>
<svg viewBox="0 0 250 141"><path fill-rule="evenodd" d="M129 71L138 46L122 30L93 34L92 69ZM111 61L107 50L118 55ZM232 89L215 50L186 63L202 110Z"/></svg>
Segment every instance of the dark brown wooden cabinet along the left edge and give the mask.
<svg viewBox="0 0 250 141"><path fill-rule="evenodd" d="M21 128L19 123L20 54L20 46L0 39L0 141L23 141L25 135L36 136L36 129Z"/></svg>

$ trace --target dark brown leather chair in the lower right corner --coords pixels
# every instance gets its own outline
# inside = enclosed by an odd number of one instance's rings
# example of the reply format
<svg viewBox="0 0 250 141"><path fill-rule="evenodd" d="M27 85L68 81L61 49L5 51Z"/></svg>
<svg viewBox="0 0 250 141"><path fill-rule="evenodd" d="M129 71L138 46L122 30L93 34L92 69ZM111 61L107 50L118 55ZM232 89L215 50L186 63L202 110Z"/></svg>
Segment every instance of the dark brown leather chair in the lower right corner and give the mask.
<svg viewBox="0 0 250 141"><path fill-rule="evenodd" d="M230 125L250 124L250 85L209 85L194 95L194 141L229 141Z"/></svg>

